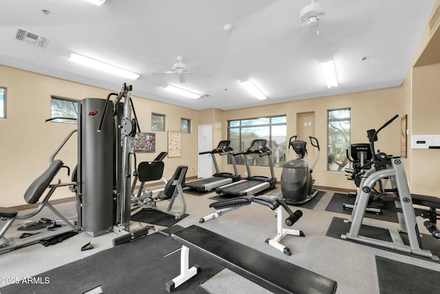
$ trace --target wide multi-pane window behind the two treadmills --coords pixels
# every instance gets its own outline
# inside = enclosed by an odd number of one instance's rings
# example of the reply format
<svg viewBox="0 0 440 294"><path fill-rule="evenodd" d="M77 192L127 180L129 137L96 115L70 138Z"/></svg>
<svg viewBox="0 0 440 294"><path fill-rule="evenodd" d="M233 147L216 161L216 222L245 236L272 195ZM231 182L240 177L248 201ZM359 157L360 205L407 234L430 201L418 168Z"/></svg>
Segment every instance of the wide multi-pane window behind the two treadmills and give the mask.
<svg viewBox="0 0 440 294"><path fill-rule="evenodd" d="M228 140L235 152L248 149L255 139L267 140L274 167L282 167L286 160L286 116L228 121ZM236 156L235 160L237 165L245 165L243 156ZM250 165L269 166L267 156L250 155L248 160Z"/></svg>

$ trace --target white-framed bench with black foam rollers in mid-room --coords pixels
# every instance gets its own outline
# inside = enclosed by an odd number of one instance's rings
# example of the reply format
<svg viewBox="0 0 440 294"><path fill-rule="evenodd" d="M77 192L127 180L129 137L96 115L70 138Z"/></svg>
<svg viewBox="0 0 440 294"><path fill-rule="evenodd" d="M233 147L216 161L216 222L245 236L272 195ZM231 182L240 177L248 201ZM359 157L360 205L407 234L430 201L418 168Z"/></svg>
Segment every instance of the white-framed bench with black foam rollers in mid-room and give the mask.
<svg viewBox="0 0 440 294"><path fill-rule="evenodd" d="M214 213L211 213L204 218L199 220L200 223L206 222L207 220L212 220L212 218L218 218L219 216L223 216L223 214L234 211L235 209L239 209L245 205L249 205L252 203L261 204L265 207L269 207L272 211L276 213L276 236L272 239L268 238L265 240L267 244L273 246L275 249L285 253L286 255L292 255L292 251L290 251L289 247L281 244L281 240L285 238L286 235L296 235L300 237L305 237L303 231L294 230L294 229L286 229L283 227L283 210L289 214L289 216L285 219L285 224L287 226L292 227L292 225L303 216L303 212L300 210L296 210L293 212L285 198L278 196L242 196L236 197L228 200L213 202L209 205L209 207L213 207L216 209Z"/></svg>

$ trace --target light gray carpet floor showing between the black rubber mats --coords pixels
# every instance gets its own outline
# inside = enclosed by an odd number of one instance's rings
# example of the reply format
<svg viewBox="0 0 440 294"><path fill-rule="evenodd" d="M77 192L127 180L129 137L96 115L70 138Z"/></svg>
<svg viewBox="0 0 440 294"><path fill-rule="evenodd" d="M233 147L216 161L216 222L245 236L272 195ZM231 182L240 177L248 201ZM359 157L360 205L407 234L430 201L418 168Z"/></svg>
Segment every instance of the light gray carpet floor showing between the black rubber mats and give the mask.
<svg viewBox="0 0 440 294"><path fill-rule="evenodd" d="M280 189L276 188L268 192L267 195L276 196L279 193L281 193ZM209 204L214 200L209 198L214 196L214 194L207 193L203 196L186 194L186 212L189 216L184 218L184 220L180 220L177 224L181 227L199 224L200 218L213 212L209 208ZM274 211L262 205L251 204L199 225L259 251L274 255L277 258L287 260L305 269L336 280L338 282L337 293L380 293L376 256L412 264L432 271L440 271L440 264L434 262L355 244L338 238L327 237L325 234L333 217L349 217L342 213L325 210L332 196L333 191L327 191L319 202L316 203L314 209L302 209L303 218L300 218L292 229L304 231L306 237L287 236L283 240L283 244L289 246L292 251L292 256L287 256L265 243L267 238L274 238L276 235L276 218ZM57 207L67 217L72 218L76 216L74 203L57 204ZM301 208L299 207L299 209ZM38 218L43 216L50 218L50 211L43 211ZM417 221L419 222L421 233L427 233L422 231L424 230L423 220L418 218ZM390 226L395 225L382 220L369 220L369 222L385 223ZM138 225L137 222L132 222L131 228L135 229ZM14 237L16 235L16 232L8 231L8 236ZM69 240L54 246L44 247L41 244L34 244L17 251L1 254L0 277L3 280L0 280L0 286L8 284L8 279L11 281L16 278L32 277L68 262L80 260L104 249L111 248L112 240L117 236L116 233L107 233L91 238L87 233L79 233ZM80 251L80 247L88 242L94 244L94 249ZM261 266L264 265L262 264ZM133 283L135 282L133 280ZM208 293L213 294L268 293L264 288L245 280L228 269L223 269L217 275L211 277L210 280L201 284L201 287L208 291ZM1 288L0 292L5 294L1 291ZM410 292L403 291L401 293Z"/></svg>

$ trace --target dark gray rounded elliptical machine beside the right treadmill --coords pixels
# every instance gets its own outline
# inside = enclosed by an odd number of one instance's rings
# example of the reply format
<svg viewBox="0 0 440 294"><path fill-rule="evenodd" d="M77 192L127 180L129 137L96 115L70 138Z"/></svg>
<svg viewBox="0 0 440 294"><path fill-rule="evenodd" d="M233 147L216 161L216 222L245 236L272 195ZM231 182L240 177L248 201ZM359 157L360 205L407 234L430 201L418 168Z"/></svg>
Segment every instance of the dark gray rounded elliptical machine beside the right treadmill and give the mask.
<svg viewBox="0 0 440 294"><path fill-rule="evenodd" d="M311 189L314 180L311 173L318 162L319 158L319 142L318 139L309 136L310 144L318 149L313 167L305 161L307 156L306 145L307 142L303 140L296 140L297 136L292 136L289 139L289 148L292 147L298 158L289 160L283 165L283 172L281 173L281 193L285 198L287 204L305 204L312 200L318 190Z"/></svg>

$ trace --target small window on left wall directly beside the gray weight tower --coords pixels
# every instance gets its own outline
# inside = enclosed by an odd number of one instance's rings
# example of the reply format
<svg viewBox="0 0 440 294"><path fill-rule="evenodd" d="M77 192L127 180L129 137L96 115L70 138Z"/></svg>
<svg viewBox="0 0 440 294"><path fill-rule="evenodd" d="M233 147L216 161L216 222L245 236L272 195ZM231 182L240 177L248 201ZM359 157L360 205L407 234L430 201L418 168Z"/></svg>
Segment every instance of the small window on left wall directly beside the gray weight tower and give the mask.
<svg viewBox="0 0 440 294"><path fill-rule="evenodd" d="M78 101L68 98L51 96L51 118L53 123L77 123Z"/></svg>

